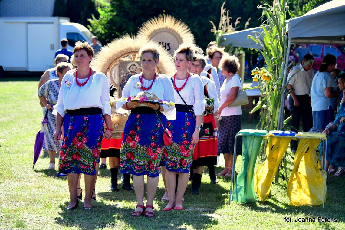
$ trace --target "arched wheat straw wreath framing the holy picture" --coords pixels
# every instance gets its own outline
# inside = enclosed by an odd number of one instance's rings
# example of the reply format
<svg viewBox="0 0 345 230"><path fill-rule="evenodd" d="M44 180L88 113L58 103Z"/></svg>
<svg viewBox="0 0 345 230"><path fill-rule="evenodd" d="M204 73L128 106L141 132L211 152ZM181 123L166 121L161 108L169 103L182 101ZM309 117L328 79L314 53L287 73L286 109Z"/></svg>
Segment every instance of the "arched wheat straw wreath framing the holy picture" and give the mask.
<svg viewBox="0 0 345 230"><path fill-rule="evenodd" d="M136 66L136 73L141 72L139 49L142 46L155 47L160 54L157 64L157 73L172 75L175 70L175 64L168 51L157 42L150 39L136 38L125 35L110 42L103 47L92 59L91 68L109 76L111 83L116 88L115 95L110 98L113 106L111 107L111 122L113 138L121 138L121 133L125 128L127 116L115 112L116 100L121 98L122 88L125 84L126 74L131 65ZM122 86L122 88L121 88Z"/></svg>

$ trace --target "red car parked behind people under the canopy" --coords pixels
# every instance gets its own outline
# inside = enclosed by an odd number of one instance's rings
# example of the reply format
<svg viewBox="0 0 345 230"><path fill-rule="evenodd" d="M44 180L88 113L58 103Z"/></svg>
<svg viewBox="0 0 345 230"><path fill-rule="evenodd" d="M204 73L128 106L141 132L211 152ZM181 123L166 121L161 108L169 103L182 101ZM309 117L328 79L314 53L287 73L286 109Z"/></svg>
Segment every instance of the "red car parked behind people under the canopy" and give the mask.
<svg viewBox="0 0 345 230"><path fill-rule="evenodd" d="M296 46L294 50L296 50L299 46ZM325 44L307 44L307 47L313 53L314 57L314 65L313 69L317 71L321 66L323 58L327 54L332 54L337 58L336 68L340 70L345 69L345 46L338 46L338 45L325 45ZM297 62L297 57L296 62Z"/></svg>

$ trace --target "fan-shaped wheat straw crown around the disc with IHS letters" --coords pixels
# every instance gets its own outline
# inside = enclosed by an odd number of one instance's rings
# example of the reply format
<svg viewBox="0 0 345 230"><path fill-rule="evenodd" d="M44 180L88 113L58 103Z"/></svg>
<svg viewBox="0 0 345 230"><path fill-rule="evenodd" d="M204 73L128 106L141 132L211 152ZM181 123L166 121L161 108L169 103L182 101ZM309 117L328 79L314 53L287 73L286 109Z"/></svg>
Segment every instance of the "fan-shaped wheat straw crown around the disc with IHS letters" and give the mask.
<svg viewBox="0 0 345 230"><path fill-rule="evenodd" d="M142 24L137 34L141 39L152 39L173 55L182 43L195 44L188 26L170 15L159 15Z"/></svg>

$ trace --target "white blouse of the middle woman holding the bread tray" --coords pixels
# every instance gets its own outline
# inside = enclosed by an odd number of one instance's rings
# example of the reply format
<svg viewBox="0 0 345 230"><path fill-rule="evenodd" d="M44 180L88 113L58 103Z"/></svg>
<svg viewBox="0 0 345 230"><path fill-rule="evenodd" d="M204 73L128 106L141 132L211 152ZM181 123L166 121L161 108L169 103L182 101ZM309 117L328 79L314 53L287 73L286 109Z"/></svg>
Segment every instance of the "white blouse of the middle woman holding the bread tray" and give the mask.
<svg viewBox="0 0 345 230"><path fill-rule="evenodd" d="M122 96L119 98L116 102L116 112L117 113L127 113L129 114L129 111L126 109L123 109L122 106L127 102L125 98L128 98L129 96L136 96L139 92L142 92L142 89L140 87L136 87L136 84L139 81L140 74L133 75L130 77L122 90ZM145 88L148 88L151 85L152 81L147 81L145 79L142 79L142 84ZM147 90L147 92L152 92L156 94L156 96L163 101L171 101L175 102L174 98L174 88L172 87L172 82L169 80L169 78L165 74L159 74L158 77L155 79L154 83L152 84L152 88ZM160 105L164 108L164 112L162 113L167 117L168 120L175 120L176 119L176 109L175 106L170 106L168 104L162 104Z"/></svg>

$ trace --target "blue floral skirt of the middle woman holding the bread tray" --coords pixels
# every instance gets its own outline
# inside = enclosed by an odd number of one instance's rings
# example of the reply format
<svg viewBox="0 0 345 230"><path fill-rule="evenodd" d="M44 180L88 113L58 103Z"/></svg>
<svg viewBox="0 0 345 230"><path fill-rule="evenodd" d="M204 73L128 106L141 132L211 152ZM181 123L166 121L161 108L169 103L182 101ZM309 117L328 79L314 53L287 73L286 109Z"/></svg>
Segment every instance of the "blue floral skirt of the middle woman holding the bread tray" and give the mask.
<svg viewBox="0 0 345 230"><path fill-rule="evenodd" d="M158 113L163 124L166 117ZM124 129L120 150L120 171L136 176L157 177L164 149L163 128L154 110L148 107L132 109Z"/></svg>

